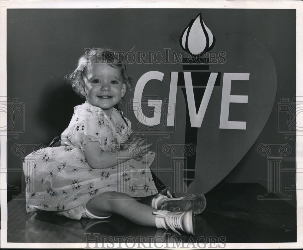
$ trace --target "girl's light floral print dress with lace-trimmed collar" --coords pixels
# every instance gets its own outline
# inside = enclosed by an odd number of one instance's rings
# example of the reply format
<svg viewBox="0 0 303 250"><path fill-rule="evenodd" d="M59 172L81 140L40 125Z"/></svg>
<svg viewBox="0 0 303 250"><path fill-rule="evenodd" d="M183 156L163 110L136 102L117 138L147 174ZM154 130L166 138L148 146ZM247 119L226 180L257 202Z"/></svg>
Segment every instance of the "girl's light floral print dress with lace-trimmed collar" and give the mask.
<svg viewBox="0 0 303 250"><path fill-rule="evenodd" d="M141 161L125 161L117 155L120 144L132 133L131 123L126 121L128 126L116 109L108 117L101 108L88 102L76 106L68 128L61 135L61 146L42 148L25 157L27 212L72 209L108 191L133 197L156 194L149 169L155 153L148 152ZM88 142L99 142L103 151L116 155L117 165L91 168L83 148Z"/></svg>

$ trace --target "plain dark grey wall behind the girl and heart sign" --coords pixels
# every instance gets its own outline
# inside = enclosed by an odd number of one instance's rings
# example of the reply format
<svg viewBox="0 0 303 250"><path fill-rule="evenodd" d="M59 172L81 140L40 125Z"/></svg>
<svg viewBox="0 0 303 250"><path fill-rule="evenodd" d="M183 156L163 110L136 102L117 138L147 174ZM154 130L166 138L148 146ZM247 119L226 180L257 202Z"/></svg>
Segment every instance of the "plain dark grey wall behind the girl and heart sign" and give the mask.
<svg viewBox="0 0 303 250"><path fill-rule="evenodd" d="M287 112L277 111L278 103L281 98L290 98L291 102L296 95L295 10L8 9L7 96L9 102L16 99L24 105L24 114L15 116L15 127L8 133L8 200L18 195L24 185L22 157L60 135L70 121L73 107L83 102L63 77L75 68L84 48L105 46L129 51L137 46L137 50L156 51L163 49L158 44L167 43L181 51L178 44L181 32L200 12L204 20L208 20L205 22L211 24L214 34L244 32L257 38L268 49L277 72L277 94L271 115L250 150L223 181L271 185L275 180L267 178L267 156L258 153L262 143L271 143L270 156L276 158L279 158L278 145L289 144L291 152L281 158L282 165L283 168L295 168L295 141L285 138L295 132L277 131L279 115L280 118L284 115L279 121L281 126L287 127L288 123ZM128 74L135 86L142 72L161 71L162 68L163 65L130 64ZM168 85L169 75L163 83ZM166 88L164 94L167 97L168 90ZM152 87L146 91L155 94ZM133 92L128 94L126 102L130 101ZM285 105L290 107L291 103ZM127 113L125 106L121 108ZM8 114L8 121L11 116L14 114ZM138 127L135 116L128 116L133 126ZM182 120L184 116L176 113L176 121ZM281 176L283 194L277 194L284 198L285 194L291 195L288 202L295 205L295 174L290 172Z"/></svg>

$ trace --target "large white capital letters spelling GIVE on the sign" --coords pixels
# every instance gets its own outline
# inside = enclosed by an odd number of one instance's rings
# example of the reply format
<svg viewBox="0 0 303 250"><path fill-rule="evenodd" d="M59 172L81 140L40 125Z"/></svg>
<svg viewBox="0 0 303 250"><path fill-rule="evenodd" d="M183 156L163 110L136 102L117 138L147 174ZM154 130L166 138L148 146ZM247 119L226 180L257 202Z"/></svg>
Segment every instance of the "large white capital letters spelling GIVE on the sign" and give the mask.
<svg viewBox="0 0 303 250"><path fill-rule="evenodd" d="M205 111L213 91L215 81L218 76L218 72L212 72L208 78L208 82L205 88L205 92L199 107L196 111L194 91L191 80L191 72L183 72L185 81L186 98L188 102L188 113L190 117L191 127L200 128ZM156 112L162 108L162 100L148 100L148 106L154 107L154 116L146 117L142 113L142 93L145 85L150 80L159 80L162 82L164 73L159 71L149 71L140 77L137 82L134 100L139 102L134 103L134 113L139 122L148 126L154 126L160 124L161 112ZM229 104L233 103L248 103L247 95L231 95L231 81L232 80L249 80L249 73L224 73L223 74L223 86L222 86L222 98L221 98L221 114L220 114L220 127L222 129L246 129L246 122L228 121L229 116ZM175 103L177 96L178 86L178 72L171 72L170 90L169 90L169 104L167 115L167 126L174 126L175 122Z"/></svg>

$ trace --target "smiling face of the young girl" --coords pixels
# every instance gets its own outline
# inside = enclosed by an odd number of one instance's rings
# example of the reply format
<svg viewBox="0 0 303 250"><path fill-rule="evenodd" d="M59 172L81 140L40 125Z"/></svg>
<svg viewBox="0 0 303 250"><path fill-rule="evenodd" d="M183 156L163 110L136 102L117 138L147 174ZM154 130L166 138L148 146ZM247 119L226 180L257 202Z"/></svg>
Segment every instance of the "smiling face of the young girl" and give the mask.
<svg viewBox="0 0 303 250"><path fill-rule="evenodd" d="M92 63L83 80L86 100L110 116L126 92L120 69L107 63Z"/></svg>

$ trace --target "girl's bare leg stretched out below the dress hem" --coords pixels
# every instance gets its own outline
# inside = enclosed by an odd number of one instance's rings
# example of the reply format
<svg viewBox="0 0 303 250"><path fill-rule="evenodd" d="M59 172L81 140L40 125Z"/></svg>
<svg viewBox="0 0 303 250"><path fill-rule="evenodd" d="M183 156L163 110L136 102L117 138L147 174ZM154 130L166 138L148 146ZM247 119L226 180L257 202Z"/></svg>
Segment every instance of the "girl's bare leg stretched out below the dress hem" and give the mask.
<svg viewBox="0 0 303 250"><path fill-rule="evenodd" d="M152 212L157 212L158 210L139 203L124 193L102 193L88 201L86 209L96 216L107 216L115 213L138 225L156 226L155 215Z"/></svg>

